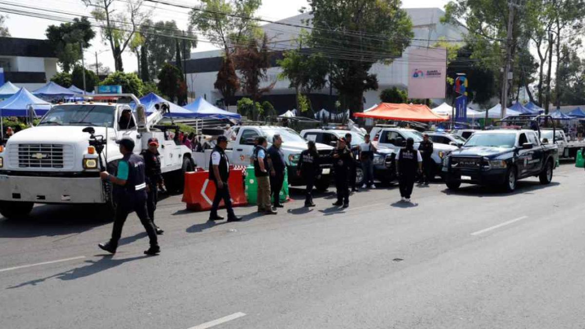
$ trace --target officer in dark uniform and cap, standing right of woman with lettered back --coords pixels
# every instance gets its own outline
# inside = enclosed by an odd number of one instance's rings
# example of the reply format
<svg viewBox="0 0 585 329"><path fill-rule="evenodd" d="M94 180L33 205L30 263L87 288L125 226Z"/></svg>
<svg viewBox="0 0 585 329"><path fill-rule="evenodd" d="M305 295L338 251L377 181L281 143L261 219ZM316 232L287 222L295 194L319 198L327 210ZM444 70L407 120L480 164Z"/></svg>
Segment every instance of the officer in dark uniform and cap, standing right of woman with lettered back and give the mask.
<svg viewBox="0 0 585 329"><path fill-rule="evenodd" d="M347 148L345 138L337 141L337 148L331 152L333 158L333 170L335 171L335 188L337 190L337 201L333 205L349 207L349 186L347 180L350 177L349 167L352 159L352 152Z"/></svg>

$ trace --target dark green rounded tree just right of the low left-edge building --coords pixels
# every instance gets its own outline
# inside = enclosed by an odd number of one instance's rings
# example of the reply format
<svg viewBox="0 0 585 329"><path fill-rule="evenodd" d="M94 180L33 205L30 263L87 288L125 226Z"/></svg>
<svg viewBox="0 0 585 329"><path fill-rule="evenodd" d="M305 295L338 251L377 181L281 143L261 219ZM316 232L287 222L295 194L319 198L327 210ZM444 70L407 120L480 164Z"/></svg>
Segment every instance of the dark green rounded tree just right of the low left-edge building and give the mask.
<svg viewBox="0 0 585 329"><path fill-rule="evenodd" d="M55 47L57 59L63 71L71 71L71 67L81 60L81 44L84 49L90 47L90 40L94 39L95 32L87 17L74 18L71 23L50 25L45 35Z"/></svg>

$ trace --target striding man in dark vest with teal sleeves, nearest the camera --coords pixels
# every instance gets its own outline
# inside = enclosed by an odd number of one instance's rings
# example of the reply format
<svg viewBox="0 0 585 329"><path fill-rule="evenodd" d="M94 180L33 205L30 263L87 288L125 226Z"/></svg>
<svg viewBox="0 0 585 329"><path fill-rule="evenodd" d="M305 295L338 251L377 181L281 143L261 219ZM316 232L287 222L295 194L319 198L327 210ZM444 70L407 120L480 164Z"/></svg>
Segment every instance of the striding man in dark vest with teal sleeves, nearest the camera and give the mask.
<svg viewBox="0 0 585 329"><path fill-rule="evenodd" d="M116 253L118 241L122 235L122 227L132 211L136 212L140 222L146 229L150 239L150 248L144 251L146 255L156 255L160 252L154 224L148 217L146 210L146 178L144 177L144 160L132 153L134 141L124 138L119 140L120 153L123 157L118 162L118 174L113 176L108 172L101 172L99 176L113 184L113 194L118 205L113 222L112 238L109 242L99 244L99 248L107 252Z"/></svg>

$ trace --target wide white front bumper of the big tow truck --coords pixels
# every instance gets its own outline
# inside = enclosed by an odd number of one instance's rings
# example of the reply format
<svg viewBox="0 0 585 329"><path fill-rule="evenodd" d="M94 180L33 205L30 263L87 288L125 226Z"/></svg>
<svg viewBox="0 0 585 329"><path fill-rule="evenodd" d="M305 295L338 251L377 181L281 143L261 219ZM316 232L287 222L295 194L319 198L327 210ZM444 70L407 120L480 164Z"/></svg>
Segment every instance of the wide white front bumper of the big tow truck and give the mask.
<svg viewBox="0 0 585 329"><path fill-rule="evenodd" d="M105 203L99 177L32 177L0 174L0 200L34 203Z"/></svg>

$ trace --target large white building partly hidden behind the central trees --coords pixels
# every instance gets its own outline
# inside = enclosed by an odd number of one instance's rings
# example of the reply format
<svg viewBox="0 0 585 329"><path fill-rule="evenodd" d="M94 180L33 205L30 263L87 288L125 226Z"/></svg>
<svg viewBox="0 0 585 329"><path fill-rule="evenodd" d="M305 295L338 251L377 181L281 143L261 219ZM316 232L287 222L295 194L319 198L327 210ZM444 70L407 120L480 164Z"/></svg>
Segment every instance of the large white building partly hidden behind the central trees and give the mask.
<svg viewBox="0 0 585 329"><path fill-rule="evenodd" d="M409 46L401 57L398 57L390 65L376 63L370 70L370 73L377 74L378 90L371 90L364 93L364 108L369 108L380 102L380 91L388 87L398 87L401 89L408 88L408 53L409 50L418 47L429 47L436 43L435 40L445 38L446 40L461 40L466 32L462 26L455 26L441 23L441 17L445 14L439 8L415 8L405 9L412 20L412 32L414 37ZM310 18L308 13L292 16L279 22L289 23L291 25L304 25L303 20ZM269 23L261 26L270 40L271 49L296 49L298 47L297 39L302 28L295 26L285 26L277 23ZM416 40L419 39L419 40ZM278 57L278 54L273 57ZM284 112L295 107L294 90L288 88L288 80L278 80L278 74L281 68L276 65L268 70L268 81L264 85L274 84L274 88L263 96L270 101L278 112ZM194 93L191 96L203 96L211 103L219 103L222 95L215 90L214 83L217 72L222 63L221 50L211 50L207 52L195 52L191 54L191 59L187 61L187 85L188 91ZM332 92L332 96L330 96ZM236 94L242 96L241 92ZM313 92L310 95L314 108L332 108L336 100L336 91L326 86L324 90Z"/></svg>

